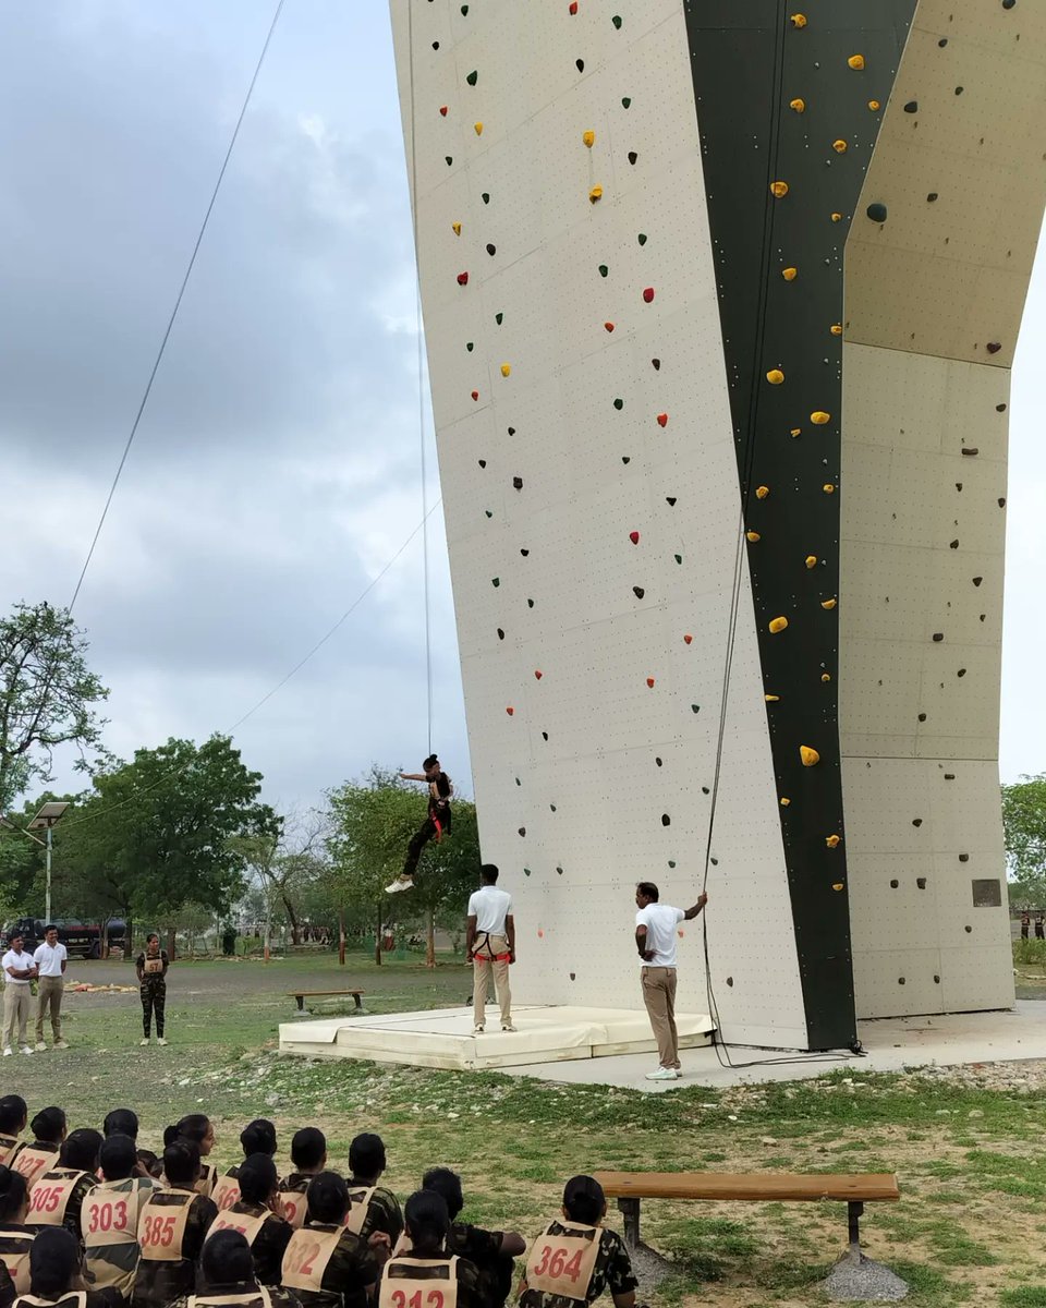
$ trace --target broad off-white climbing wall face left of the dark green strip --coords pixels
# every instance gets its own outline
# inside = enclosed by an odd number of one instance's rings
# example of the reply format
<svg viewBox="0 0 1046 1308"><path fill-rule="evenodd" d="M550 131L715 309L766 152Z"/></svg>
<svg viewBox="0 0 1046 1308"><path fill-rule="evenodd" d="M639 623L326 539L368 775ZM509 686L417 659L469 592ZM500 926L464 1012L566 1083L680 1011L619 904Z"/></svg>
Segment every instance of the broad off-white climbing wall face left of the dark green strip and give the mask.
<svg viewBox="0 0 1046 1308"><path fill-rule="evenodd" d="M482 852L520 1001L641 1007L634 883L705 866L740 515L683 3L462 8L391 4ZM722 1028L803 1046L744 562L713 855ZM706 1011L698 923L680 954Z"/></svg>

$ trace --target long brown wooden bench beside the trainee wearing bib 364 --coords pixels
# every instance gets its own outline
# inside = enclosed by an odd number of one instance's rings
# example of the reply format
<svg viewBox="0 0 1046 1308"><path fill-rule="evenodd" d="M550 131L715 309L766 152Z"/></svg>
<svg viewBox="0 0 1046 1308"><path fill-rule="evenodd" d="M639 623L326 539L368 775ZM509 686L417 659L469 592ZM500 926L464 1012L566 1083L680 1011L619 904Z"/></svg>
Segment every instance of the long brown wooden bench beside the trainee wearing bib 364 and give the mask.
<svg viewBox="0 0 1046 1308"><path fill-rule="evenodd" d="M866 1203L901 1198L893 1172L795 1175L791 1172L594 1172L607 1198L617 1199L625 1241L639 1244L641 1199L730 1199L748 1203L792 1203L837 1199L846 1205L850 1253L860 1258L859 1223Z"/></svg>

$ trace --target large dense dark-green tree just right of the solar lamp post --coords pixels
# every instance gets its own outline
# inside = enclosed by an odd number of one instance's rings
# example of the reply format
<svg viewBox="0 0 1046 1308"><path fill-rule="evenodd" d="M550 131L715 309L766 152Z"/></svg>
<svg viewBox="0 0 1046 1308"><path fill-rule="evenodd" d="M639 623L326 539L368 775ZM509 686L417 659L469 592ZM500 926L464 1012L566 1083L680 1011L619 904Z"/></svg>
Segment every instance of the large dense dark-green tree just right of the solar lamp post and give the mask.
<svg viewBox="0 0 1046 1308"><path fill-rule="evenodd" d="M228 736L201 746L169 740L94 778L94 793L61 831L75 897L124 917L174 923L186 905L226 913L243 893L245 837L275 837L278 819L259 803Z"/></svg>

